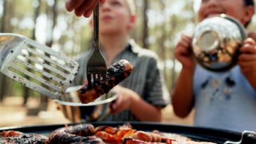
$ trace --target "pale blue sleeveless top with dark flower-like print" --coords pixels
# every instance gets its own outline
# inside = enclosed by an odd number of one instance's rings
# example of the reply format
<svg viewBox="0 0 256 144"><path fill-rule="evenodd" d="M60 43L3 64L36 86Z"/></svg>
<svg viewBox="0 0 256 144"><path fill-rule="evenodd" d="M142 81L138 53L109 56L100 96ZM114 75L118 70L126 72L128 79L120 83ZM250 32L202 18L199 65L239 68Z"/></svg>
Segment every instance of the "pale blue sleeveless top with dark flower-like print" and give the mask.
<svg viewBox="0 0 256 144"><path fill-rule="evenodd" d="M256 93L240 66L228 72L209 72L197 65L193 96L196 126L256 131Z"/></svg>

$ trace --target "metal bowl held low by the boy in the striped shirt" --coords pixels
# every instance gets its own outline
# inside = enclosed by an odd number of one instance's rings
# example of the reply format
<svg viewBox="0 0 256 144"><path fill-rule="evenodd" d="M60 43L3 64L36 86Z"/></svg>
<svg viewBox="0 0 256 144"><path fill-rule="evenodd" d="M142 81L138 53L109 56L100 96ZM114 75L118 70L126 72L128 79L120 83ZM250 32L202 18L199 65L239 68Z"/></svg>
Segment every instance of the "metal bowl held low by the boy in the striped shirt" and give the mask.
<svg viewBox="0 0 256 144"><path fill-rule="evenodd" d="M91 103L82 104L77 90L82 86L72 86L65 94L54 100L65 117L71 122L100 122L110 114L110 104L117 98L113 90L103 94Z"/></svg>

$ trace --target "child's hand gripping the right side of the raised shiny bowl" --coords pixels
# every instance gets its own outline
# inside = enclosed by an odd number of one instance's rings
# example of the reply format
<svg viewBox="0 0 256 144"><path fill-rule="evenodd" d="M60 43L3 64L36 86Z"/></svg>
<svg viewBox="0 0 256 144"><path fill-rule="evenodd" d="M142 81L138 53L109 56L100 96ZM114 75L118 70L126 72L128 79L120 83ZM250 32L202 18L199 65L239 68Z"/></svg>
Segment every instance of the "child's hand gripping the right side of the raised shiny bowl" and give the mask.
<svg viewBox="0 0 256 144"><path fill-rule="evenodd" d="M247 76L256 74L256 43L253 39L245 39L243 45L239 49L241 54L238 56L238 65L241 72Z"/></svg>

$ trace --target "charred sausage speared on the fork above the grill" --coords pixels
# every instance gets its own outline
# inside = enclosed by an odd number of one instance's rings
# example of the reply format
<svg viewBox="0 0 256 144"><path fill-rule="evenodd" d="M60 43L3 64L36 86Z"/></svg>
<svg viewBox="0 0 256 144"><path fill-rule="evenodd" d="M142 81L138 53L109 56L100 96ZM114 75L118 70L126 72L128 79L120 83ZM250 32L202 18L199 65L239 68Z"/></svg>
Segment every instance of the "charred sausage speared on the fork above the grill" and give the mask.
<svg viewBox="0 0 256 144"><path fill-rule="evenodd" d="M94 79L91 86L89 86L88 83L84 84L84 86L77 91L77 96L81 103L90 103L104 93L108 93L114 86L132 74L132 71L133 66L127 60L120 60L108 67L107 81L105 84L103 84L103 81Z"/></svg>

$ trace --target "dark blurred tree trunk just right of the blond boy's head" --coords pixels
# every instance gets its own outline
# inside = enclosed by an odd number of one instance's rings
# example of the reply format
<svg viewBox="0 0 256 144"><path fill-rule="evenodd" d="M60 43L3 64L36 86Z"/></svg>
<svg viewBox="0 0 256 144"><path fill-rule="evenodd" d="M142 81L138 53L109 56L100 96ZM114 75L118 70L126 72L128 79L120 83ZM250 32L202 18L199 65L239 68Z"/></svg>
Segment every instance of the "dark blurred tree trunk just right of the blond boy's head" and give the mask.
<svg viewBox="0 0 256 144"><path fill-rule="evenodd" d="M147 16L147 10L148 10L148 0L144 0L144 6L143 6L143 48L148 49L148 16Z"/></svg>

